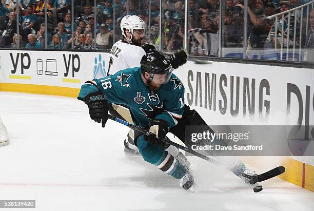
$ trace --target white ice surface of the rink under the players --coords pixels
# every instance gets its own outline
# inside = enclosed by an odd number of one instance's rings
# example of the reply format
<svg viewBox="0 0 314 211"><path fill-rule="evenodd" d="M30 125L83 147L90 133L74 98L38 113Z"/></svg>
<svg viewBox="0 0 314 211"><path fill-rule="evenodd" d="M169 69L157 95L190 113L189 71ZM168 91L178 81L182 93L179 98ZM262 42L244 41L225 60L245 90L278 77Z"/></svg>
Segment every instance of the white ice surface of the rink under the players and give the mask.
<svg viewBox="0 0 314 211"><path fill-rule="evenodd" d="M35 210L314 207L311 191L274 178L253 193L227 170L195 157L189 159L198 187L189 193L142 158L125 156L128 128L108 120L103 129L76 99L0 92L0 116L10 138L0 147L0 200L36 200Z"/></svg>

